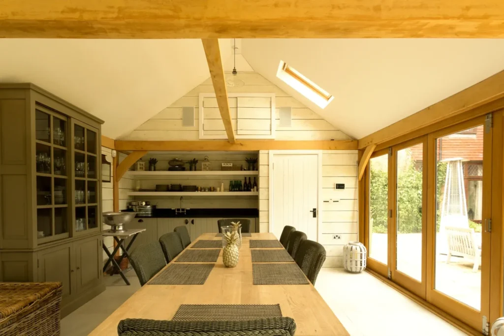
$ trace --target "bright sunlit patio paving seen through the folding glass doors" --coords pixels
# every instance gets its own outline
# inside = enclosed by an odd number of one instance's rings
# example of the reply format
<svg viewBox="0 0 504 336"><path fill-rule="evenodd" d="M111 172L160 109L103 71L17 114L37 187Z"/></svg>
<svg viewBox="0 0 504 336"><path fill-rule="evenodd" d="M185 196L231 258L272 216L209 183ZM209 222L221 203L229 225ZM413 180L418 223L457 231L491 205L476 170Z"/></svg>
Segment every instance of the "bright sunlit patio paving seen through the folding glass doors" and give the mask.
<svg viewBox="0 0 504 336"><path fill-rule="evenodd" d="M437 234L437 246L443 246L444 239L444 237ZM420 279L422 270L421 234L399 234L397 245L397 269L414 279ZM372 234L370 256L382 262L387 260L387 234ZM472 260L452 256L450 263L447 264L446 259L446 254L436 254L435 289L480 310L481 267L478 272L472 272L474 264Z"/></svg>

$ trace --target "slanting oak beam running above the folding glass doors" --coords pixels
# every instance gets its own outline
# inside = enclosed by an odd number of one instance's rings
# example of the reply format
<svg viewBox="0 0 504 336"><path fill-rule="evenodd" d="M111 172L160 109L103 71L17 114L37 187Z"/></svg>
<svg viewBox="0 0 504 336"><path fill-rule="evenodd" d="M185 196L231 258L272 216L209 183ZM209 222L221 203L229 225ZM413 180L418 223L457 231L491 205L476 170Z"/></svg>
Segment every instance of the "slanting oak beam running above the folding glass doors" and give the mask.
<svg viewBox="0 0 504 336"><path fill-rule="evenodd" d="M382 144L470 110L478 109L479 114L492 112L495 110L495 104L492 103L503 97L504 71L501 71L453 96L359 139L359 149L371 144Z"/></svg>

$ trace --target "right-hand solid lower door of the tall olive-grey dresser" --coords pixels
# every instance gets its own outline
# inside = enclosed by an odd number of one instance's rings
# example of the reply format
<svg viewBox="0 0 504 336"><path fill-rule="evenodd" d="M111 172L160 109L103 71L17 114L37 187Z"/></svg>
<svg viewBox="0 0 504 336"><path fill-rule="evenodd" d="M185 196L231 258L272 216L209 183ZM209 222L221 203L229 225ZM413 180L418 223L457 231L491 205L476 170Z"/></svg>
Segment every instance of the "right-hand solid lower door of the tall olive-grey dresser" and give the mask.
<svg viewBox="0 0 504 336"><path fill-rule="evenodd" d="M77 292L81 293L95 286L102 272L99 257L102 253L101 235L74 242L76 255Z"/></svg>

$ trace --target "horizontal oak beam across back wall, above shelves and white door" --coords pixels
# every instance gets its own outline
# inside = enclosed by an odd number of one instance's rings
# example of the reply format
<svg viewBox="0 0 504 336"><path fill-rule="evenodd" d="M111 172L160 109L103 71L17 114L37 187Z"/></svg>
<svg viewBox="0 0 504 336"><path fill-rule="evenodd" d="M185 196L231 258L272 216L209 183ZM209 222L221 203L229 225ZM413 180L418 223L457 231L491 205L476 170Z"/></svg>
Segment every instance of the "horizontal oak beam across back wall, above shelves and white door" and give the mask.
<svg viewBox="0 0 504 336"><path fill-rule="evenodd" d="M277 141L247 140L230 144L209 141L115 141L117 151L260 151L260 150L356 150L356 140Z"/></svg>

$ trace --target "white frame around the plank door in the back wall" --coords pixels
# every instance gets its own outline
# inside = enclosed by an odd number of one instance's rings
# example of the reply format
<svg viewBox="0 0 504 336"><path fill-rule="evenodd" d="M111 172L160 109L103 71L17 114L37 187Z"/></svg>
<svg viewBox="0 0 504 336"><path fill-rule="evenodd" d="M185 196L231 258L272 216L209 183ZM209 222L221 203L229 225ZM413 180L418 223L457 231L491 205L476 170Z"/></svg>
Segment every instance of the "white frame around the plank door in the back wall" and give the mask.
<svg viewBox="0 0 504 336"><path fill-rule="evenodd" d="M275 197L275 179L273 174L273 162L275 155L317 155L317 241L320 242L322 238L322 230L320 229L322 225L322 154L323 151L310 151L310 150L291 150L291 151L269 151L268 155L268 169L269 169L269 231L273 233L274 223L274 197ZM289 225L284 223L285 225Z"/></svg>

